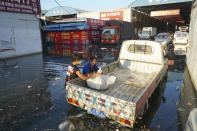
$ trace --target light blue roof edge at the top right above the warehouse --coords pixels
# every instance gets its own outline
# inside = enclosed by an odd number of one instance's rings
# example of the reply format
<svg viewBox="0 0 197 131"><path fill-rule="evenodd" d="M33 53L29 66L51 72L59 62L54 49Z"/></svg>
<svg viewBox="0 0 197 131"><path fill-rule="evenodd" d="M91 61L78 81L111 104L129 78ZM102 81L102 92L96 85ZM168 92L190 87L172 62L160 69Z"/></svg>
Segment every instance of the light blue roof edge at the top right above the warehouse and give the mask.
<svg viewBox="0 0 197 131"><path fill-rule="evenodd" d="M140 6L151 6L151 5L162 5L162 4L172 4L181 2L191 2L192 0L137 0L131 4L131 7Z"/></svg>

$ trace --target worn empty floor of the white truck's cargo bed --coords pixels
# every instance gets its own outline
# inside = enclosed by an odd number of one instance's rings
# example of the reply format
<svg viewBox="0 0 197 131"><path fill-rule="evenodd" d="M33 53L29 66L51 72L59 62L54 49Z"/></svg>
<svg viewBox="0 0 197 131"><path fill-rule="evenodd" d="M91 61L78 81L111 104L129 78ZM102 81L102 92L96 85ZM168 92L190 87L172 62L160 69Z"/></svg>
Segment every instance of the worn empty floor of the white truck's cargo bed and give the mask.
<svg viewBox="0 0 197 131"><path fill-rule="evenodd" d="M115 76L116 82L107 90L99 91L105 95L135 102L136 98L145 90L156 76L156 73L132 72L121 68L116 68L107 75Z"/></svg>

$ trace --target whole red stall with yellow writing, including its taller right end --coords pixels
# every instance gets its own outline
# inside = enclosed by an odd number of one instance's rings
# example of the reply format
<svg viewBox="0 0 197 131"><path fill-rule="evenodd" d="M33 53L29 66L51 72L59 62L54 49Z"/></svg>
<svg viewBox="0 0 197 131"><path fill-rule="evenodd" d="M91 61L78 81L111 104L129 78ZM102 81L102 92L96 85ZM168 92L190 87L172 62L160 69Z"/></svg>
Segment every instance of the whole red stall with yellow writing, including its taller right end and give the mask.
<svg viewBox="0 0 197 131"><path fill-rule="evenodd" d="M88 56L90 44L100 43L100 28L103 21L87 19L87 26L82 30L47 31L47 41L52 47L48 48L48 53L55 56L72 56L74 53L81 53L84 58Z"/></svg>

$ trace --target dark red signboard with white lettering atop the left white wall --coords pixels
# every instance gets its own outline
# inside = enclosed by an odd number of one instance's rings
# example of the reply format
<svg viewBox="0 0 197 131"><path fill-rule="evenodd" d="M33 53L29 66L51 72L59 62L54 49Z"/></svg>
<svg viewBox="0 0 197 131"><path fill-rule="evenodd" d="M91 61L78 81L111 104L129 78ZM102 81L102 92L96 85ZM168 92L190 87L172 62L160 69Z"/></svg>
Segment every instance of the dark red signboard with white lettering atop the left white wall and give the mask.
<svg viewBox="0 0 197 131"><path fill-rule="evenodd" d="M0 0L0 11L40 14L39 0Z"/></svg>

